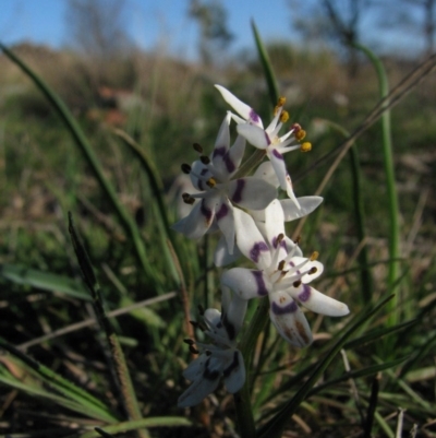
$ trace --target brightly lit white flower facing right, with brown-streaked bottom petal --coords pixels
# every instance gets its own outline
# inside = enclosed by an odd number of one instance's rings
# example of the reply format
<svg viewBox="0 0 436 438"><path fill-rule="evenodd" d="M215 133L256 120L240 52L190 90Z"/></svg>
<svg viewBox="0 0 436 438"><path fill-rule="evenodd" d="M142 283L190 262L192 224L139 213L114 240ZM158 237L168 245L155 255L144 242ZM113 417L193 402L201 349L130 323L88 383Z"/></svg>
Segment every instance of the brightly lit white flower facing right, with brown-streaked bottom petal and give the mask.
<svg viewBox="0 0 436 438"><path fill-rule="evenodd" d="M301 257L299 247L284 236L283 212L279 201L271 202L265 212L262 233L253 217L239 212L241 227L237 242L241 252L252 260L257 270L234 268L225 272L221 284L230 287L241 299L268 295L269 316L278 332L294 346L312 342L312 333L296 301L317 313L340 317L349 313L347 305L332 299L308 283L319 276L323 264Z"/></svg>

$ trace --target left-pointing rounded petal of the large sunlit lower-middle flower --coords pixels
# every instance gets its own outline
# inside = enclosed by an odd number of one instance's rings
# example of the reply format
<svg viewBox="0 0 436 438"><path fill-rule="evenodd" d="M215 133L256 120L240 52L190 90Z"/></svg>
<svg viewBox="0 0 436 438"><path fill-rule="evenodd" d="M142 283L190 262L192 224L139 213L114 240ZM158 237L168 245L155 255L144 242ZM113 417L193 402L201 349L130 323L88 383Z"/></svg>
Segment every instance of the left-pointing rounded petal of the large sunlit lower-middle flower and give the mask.
<svg viewBox="0 0 436 438"><path fill-rule="evenodd" d="M271 289L268 276L263 271L233 268L221 275L221 284L229 287L241 299L262 298Z"/></svg>

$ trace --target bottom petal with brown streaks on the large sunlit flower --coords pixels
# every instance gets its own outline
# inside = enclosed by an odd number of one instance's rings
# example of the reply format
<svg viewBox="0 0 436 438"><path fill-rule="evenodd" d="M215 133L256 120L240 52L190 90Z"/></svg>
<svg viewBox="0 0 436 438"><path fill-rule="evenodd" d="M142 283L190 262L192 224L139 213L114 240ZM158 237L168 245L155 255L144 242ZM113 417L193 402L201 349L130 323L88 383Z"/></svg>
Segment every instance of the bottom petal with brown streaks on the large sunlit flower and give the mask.
<svg viewBox="0 0 436 438"><path fill-rule="evenodd" d="M311 328L298 304L283 292L270 294L269 300L269 317L280 335L293 346L310 345Z"/></svg>

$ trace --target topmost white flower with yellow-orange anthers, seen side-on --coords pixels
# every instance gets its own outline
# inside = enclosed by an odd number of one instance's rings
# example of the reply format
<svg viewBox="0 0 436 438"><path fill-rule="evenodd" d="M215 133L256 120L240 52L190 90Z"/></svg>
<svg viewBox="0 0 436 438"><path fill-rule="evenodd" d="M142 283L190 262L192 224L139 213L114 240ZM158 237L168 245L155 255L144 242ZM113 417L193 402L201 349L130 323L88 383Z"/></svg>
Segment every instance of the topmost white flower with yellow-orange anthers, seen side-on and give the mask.
<svg viewBox="0 0 436 438"><path fill-rule="evenodd" d="M232 115L233 119L239 123L238 132L253 146L265 150L266 155L274 166L280 187L287 191L288 197L299 206L299 202L293 193L291 177L286 168L283 154L294 150L301 150L303 152L310 151L311 143L303 143L301 145L292 144L294 143L294 138L302 140L305 135L305 132L298 123L292 125L291 129L284 135L278 137L283 122L287 121L289 117L288 113L283 110L284 98L281 97L279 99L275 109L275 117L269 126L264 129L261 117L253 108L241 102L223 86L215 86L221 93L223 99L242 117L241 119Z"/></svg>

